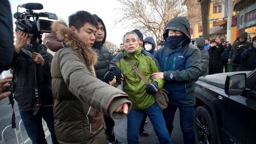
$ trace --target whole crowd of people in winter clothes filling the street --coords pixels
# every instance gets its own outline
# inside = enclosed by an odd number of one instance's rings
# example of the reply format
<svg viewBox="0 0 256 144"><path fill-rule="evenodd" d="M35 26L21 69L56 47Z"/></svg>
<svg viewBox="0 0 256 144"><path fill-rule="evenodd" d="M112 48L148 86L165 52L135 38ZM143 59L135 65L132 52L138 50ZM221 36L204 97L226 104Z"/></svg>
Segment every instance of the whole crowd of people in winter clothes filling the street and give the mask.
<svg viewBox="0 0 256 144"><path fill-rule="evenodd" d="M172 144L177 108L184 144L195 144L195 81L223 72L224 67L225 72L256 68L256 37L248 42L246 32L233 45L218 38L191 39L189 20L176 17L158 45L134 29L124 34L120 49L112 55L103 45L107 30L101 18L77 11L68 22L53 22L53 33L38 46L38 53L28 34L17 29L11 61L3 68L14 70L14 99L33 144L47 144L42 118L53 144L122 144L113 132L113 119L126 116L128 144L139 144L139 135L149 135L144 129L147 117L159 143ZM11 79L1 80L1 89ZM122 90L116 88L119 85ZM169 99L163 110L155 102L162 88Z"/></svg>

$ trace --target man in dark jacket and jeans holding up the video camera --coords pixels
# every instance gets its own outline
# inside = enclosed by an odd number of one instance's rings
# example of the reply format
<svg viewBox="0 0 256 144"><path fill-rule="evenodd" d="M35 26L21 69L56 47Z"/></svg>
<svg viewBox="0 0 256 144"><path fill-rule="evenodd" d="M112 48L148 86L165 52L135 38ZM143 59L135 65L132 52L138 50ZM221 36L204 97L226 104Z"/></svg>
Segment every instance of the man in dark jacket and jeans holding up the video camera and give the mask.
<svg viewBox="0 0 256 144"><path fill-rule="evenodd" d="M17 44L14 45L13 60L11 68L15 71L15 95L18 103L20 117L23 121L27 135L32 140L32 144L47 144L45 133L42 125L42 117L47 123L52 136L52 143L58 144L54 129L53 114L53 94L52 94L52 77L51 62L53 55L46 51L44 45L39 45L39 53L32 54L32 45L28 34L18 31ZM42 105L33 115L37 104L35 97L36 76L35 61L39 72L39 99Z"/></svg>

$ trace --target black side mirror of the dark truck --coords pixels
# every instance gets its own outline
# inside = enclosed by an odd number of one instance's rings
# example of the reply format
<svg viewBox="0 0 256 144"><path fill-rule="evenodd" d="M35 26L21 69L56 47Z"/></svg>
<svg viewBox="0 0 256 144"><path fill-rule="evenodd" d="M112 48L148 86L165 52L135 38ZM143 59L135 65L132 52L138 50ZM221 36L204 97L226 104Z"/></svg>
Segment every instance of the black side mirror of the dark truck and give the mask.
<svg viewBox="0 0 256 144"><path fill-rule="evenodd" d="M225 81L225 93L229 96L241 95L246 86L246 73L229 74Z"/></svg>

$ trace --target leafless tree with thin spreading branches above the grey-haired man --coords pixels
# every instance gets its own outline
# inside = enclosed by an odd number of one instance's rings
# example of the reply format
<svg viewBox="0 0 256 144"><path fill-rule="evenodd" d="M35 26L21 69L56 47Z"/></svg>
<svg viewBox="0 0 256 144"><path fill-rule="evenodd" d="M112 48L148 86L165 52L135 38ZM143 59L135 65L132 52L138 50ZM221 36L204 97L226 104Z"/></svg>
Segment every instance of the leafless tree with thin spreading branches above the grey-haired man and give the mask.
<svg viewBox="0 0 256 144"><path fill-rule="evenodd" d="M117 0L123 5L117 9L123 16L115 25L128 22L127 27L139 29L145 36L153 36L156 43L163 39L168 22L178 16L186 16L183 0Z"/></svg>

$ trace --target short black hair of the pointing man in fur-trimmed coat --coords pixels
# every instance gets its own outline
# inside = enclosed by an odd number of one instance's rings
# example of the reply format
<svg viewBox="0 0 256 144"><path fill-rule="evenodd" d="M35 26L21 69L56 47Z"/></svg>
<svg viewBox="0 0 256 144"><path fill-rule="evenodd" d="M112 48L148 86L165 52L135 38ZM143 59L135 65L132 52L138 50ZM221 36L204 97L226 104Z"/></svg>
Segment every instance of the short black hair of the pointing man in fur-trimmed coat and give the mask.
<svg viewBox="0 0 256 144"><path fill-rule="evenodd" d="M78 33L80 32L80 28L87 22L95 27L99 27L97 19L90 12L84 10L77 11L68 17L69 27L75 27Z"/></svg>

